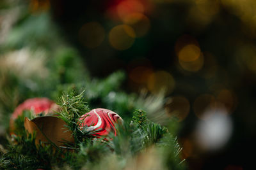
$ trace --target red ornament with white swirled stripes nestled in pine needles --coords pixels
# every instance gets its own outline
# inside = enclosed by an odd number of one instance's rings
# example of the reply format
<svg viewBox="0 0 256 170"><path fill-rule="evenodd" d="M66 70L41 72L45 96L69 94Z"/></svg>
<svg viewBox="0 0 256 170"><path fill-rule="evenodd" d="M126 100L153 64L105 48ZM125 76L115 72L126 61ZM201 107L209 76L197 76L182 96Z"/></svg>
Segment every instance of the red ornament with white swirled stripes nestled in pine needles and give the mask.
<svg viewBox="0 0 256 170"><path fill-rule="evenodd" d="M85 113L80 120L83 121L80 127L87 125L89 131L99 130L93 136L106 136L110 131L116 136L115 124L123 121L115 112L102 108Z"/></svg>

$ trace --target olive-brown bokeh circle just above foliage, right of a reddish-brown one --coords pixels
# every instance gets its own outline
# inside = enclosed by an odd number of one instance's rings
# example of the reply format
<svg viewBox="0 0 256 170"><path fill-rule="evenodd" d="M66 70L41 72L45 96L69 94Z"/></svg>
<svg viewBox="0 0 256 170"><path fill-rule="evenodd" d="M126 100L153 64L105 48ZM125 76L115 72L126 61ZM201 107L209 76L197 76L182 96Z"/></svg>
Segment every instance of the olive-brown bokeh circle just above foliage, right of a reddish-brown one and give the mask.
<svg viewBox="0 0 256 170"><path fill-rule="evenodd" d="M148 90L153 94L159 94L162 90L166 95L170 94L175 88L175 80L170 73L166 71L157 71L152 73L148 79Z"/></svg>

